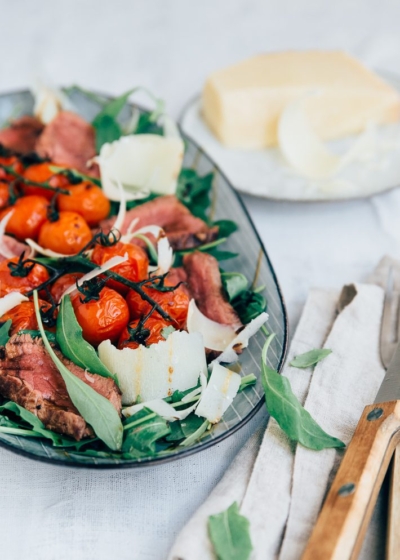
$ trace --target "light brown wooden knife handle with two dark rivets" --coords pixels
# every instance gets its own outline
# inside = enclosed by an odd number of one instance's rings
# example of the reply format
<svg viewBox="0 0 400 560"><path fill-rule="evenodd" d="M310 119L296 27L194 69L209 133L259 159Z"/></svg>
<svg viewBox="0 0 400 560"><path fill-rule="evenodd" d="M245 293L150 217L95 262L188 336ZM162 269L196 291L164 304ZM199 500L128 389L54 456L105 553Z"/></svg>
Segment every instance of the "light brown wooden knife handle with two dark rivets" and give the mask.
<svg viewBox="0 0 400 560"><path fill-rule="evenodd" d="M302 560L356 560L399 442L400 401L365 407Z"/></svg>

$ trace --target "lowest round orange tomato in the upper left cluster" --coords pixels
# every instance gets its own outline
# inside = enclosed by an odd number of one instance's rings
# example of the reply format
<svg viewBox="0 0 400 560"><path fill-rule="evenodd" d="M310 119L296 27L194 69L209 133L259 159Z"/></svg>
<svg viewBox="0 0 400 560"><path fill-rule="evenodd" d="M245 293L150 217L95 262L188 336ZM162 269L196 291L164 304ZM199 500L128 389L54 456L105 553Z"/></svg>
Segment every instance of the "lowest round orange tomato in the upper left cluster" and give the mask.
<svg viewBox="0 0 400 560"><path fill-rule="evenodd" d="M63 255L79 253L91 239L89 226L76 212L59 212L58 219L47 220L39 232L39 245Z"/></svg>

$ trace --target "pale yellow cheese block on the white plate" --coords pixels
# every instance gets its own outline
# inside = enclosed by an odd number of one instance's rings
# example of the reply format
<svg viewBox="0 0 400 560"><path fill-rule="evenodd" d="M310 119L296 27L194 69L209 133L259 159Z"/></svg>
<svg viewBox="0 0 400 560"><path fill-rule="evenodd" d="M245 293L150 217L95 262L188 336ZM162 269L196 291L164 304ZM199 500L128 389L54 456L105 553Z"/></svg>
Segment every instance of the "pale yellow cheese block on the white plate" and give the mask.
<svg viewBox="0 0 400 560"><path fill-rule="evenodd" d="M270 147L285 106L307 92L315 92L306 111L324 140L400 118L398 92L340 51L271 53L214 72L204 87L203 115L228 147Z"/></svg>

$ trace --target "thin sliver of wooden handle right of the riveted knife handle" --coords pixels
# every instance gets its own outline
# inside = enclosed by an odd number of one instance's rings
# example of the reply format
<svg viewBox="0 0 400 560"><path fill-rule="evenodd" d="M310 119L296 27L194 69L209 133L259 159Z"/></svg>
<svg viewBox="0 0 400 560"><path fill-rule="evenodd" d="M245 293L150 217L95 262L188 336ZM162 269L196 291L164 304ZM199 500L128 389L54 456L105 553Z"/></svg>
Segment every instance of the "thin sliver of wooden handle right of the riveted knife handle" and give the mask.
<svg viewBox="0 0 400 560"><path fill-rule="evenodd" d="M398 560L400 554L400 445L394 451L389 491L389 518L386 560Z"/></svg>

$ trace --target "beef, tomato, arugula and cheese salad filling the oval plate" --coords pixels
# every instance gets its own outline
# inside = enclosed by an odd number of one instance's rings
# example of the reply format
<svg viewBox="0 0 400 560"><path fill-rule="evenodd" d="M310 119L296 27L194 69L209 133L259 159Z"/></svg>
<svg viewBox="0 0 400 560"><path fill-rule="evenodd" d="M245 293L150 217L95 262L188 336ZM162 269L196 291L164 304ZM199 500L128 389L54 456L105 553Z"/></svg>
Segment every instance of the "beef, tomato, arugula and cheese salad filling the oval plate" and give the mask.
<svg viewBox="0 0 400 560"><path fill-rule="evenodd" d="M212 221L212 174L182 167L161 102L138 113L131 90L87 122L66 91L0 130L0 432L168 455L254 384L237 362L265 330L263 287L224 271L238 226Z"/></svg>

